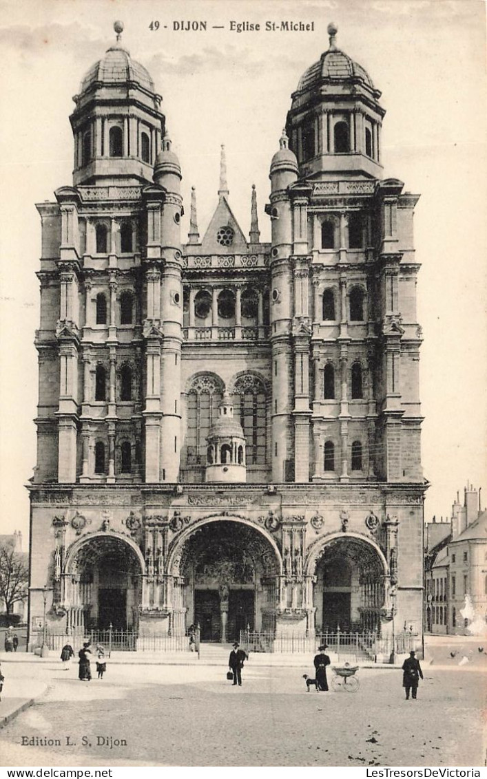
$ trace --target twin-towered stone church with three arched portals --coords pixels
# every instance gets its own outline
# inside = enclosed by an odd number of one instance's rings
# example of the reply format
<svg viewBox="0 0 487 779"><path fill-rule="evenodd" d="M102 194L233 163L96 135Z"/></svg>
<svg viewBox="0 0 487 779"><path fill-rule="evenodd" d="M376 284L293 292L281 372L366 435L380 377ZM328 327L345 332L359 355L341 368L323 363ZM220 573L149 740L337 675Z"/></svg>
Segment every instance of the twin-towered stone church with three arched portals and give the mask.
<svg viewBox="0 0 487 779"><path fill-rule="evenodd" d="M223 148L186 238L161 96L115 31L72 185L37 205L31 629L48 588L52 633L421 634L418 196L383 178L379 90L330 25L270 160L270 243Z"/></svg>

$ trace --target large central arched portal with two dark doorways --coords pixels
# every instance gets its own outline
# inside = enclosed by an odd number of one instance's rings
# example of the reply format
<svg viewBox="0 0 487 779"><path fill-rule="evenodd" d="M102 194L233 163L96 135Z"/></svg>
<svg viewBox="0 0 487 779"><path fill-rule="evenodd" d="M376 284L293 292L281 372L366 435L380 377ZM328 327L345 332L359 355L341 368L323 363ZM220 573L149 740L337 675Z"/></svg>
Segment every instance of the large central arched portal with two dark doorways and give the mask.
<svg viewBox="0 0 487 779"><path fill-rule="evenodd" d="M184 581L186 628L202 641L238 639L242 629L271 629L279 603L281 559L263 530L239 520L202 523L168 561Z"/></svg>

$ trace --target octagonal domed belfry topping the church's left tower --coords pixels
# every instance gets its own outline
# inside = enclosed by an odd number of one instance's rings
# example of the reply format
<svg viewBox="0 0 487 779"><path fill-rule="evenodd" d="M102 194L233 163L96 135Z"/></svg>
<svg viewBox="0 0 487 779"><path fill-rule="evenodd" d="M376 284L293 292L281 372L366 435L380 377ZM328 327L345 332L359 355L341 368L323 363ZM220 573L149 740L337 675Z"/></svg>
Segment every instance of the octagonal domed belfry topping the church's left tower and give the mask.
<svg viewBox="0 0 487 779"><path fill-rule="evenodd" d="M73 97L73 184L151 182L164 136L164 114L150 73L117 40L86 72Z"/></svg>

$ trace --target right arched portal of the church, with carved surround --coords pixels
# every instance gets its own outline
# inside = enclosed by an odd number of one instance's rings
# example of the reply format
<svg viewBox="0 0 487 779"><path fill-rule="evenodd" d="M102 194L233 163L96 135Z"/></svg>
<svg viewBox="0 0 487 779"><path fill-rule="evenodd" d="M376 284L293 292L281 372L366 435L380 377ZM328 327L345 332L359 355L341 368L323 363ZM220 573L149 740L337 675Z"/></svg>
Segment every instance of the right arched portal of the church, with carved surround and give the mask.
<svg viewBox="0 0 487 779"><path fill-rule="evenodd" d="M380 632L388 571L375 543L351 534L335 534L312 549L307 567L316 576L313 607L317 631Z"/></svg>

